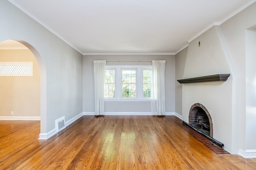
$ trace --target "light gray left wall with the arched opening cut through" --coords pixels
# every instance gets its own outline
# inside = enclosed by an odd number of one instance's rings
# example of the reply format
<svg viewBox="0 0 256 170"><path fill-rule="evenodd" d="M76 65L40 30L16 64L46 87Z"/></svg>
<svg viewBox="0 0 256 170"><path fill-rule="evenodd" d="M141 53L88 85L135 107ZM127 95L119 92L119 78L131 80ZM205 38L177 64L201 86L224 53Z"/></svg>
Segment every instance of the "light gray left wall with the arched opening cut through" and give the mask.
<svg viewBox="0 0 256 170"><path fill-rule="evenodd" d="M38 61L41 133L53 130L59 117L82 113L82 55L8 1L0 1L0 23L0 42L22 41Z"/></svg>

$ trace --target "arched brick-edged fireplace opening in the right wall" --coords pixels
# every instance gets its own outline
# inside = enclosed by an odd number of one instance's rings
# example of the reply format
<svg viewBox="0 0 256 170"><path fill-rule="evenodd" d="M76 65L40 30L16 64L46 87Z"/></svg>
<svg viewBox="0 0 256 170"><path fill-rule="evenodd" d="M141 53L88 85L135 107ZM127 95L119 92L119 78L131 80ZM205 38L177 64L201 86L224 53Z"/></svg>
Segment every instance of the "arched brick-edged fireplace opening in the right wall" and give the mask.
<svg viewBox="0 0 256 170"><path fill-rule="evenodd" d="M190 107L188 124L202 133L213 137L212 117L206 107L202 104L196 103Z"/></svg>

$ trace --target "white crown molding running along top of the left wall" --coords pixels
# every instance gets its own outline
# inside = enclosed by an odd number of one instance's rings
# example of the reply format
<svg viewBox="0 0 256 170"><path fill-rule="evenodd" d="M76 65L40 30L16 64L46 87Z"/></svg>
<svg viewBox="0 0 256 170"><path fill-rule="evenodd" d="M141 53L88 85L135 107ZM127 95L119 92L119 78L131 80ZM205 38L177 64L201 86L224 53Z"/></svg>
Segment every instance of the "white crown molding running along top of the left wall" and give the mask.
<svg viewBox="0 0 256 170"><path fill-rule="evenodd" d="M64 39L62 36L60 36L58 33L56 33L53 29L51 29L50 27L48 27L46 24L44 24L41 20L39 20L36 16L34 16L34 14L32 14L29 10L27 10L26 8L24 8L24 6L22 6L20 3L18 3L16 0L8 0L10 3L12 3L14 6L16 6L17 8L19 8L22 12L24 12L25 14L27 14L28 16L30 16L32 19L34 19L35 21L37 21L40 25L42 25L43 27L45 27L46 29L48 29L48 31L50 31L51 33L53 33L54 35L56 35L57 37L59 37L62 41L64 41L65 43L67 43L68 45L70 45L70 47L72 47L73 49L75 49L76 51L78 51L79 53L82 54L81 51L79 51L76 47L74 47L74 45L70 44L66 39Z"/></svg>

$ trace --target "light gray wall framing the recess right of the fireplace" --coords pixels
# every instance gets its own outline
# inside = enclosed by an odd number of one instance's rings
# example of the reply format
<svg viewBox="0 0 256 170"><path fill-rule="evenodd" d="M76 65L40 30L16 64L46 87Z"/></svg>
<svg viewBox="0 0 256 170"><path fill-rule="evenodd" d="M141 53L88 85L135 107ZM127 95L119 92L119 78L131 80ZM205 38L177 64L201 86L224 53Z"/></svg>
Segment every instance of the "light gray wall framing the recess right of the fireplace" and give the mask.
<svg viewBox="0 0 256 170"><path fill-rule="evenodd" d="M256 3L254 2L245 10L230 18L221 25L222 32L226 38L230 55L234 62L234 66L238 73L237 83L237 129L239 136L240 149L256 149L256 143L249 146L246 145L246 29L256 24ZM256 120L255 120L256 121ZM255 131L254 131L255 134Z"/></svg>

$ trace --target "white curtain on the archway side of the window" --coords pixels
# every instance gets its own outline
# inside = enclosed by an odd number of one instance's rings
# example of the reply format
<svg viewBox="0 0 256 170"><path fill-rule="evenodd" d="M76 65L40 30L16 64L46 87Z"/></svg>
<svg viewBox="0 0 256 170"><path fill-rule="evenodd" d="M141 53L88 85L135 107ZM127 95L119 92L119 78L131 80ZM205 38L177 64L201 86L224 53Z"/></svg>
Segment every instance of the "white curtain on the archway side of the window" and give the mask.
<svg viewBox="0 0 256 170"><path fill-rule="evenodd" d="M94 63L94 94L95 115L104 115L104 79L106 72L106 61L95 60Z"/></svg>

